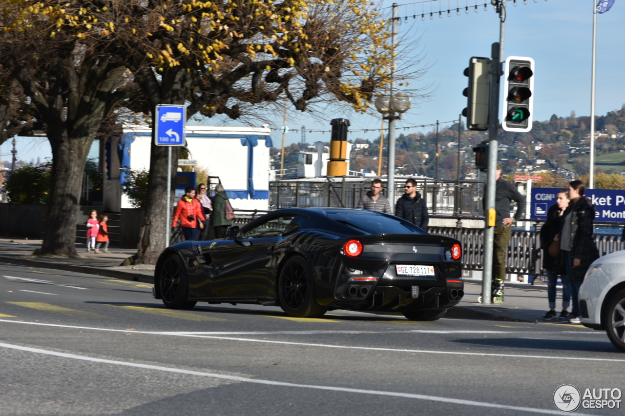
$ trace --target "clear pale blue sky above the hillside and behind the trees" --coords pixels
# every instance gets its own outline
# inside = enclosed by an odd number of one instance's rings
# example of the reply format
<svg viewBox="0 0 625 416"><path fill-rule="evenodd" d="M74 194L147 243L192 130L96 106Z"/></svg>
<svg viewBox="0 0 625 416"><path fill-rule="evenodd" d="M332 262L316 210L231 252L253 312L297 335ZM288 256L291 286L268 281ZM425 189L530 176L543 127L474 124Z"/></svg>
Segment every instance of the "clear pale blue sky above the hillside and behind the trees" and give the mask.
<svg viewBox="0 0 625 416"><path fill-rule="evenodd" d="M416 86L433 86L433 95L427 102L414 106L407 112L397 127L430 124L457 119L466 107L462 90L467 86L467 78L462 75L471 56L490 56L492 42L499 40L499 18L492 6L484 11L480 0L474 12L475 0L436 0L399 7L399 16L410 16L405 23L401 19L399 36L406 38L406 46L414 53L422 51L422 64L429 67ZM590 114L591 56L592 56L592 9L594 0L512 0L507 1L506 37L504 56L529 56L536 62L534 79L534 120L547 120L552 114L569 116L575 111L577 116ZM383 1L381 7L389 7L392 1ZM464 7L469 7L469 13ZM451 17L447 9L451 7ZM461 8L459 16L456 7ZM439 9L444 10L442 18ZM429 12L434 19L429 19ZM390 14L390 7L385 9ZM421 12L426 13L421 21ZM418 14L417 19L412 19ZM597 14L597 59L596 59L596 114L619 109L625 103L625 0L616 0L612 9ZM417 38L420 41L417 42ZM412 86L415 86L412 83ZM289 112L287 126L299 129L329 129L330 119L344 117L351 121L353 129L379 129L380 119L374 115L356 115L351 109L341 110L328 107L316 117ZM319 119L322 119L320 121ZM206 124L223 124L212 119ZM229 121L231 126L240 122ZM282 126L282 114L276 114L272 127ZM417 132L419 129L399 129L401 132ZM374 139L378 133L354 132L350 138ZM275 146L279 146L282 135L272 134ZM286 143L298 142L299 132L289 132ZM306 132L309 143L329 140L329 135L320 132ZM49 144L41 139L18 139L17 150L21 159L30 161L37 156L44 159L50 156ZM0 154L9 154L11 145L0 146ZM9 160L8 156L0 156Z"/></svg>

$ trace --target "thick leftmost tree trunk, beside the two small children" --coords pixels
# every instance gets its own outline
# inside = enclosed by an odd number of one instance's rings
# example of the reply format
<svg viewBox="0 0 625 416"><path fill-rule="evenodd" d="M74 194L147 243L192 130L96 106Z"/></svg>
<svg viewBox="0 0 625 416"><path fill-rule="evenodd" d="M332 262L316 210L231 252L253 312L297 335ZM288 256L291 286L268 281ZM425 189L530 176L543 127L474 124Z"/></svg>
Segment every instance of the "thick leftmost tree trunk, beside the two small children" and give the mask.
<svg viewBox="0 0 625 416"><path fill-rule="evenodd" d="M52 171L46 232L39 255L78 257L76 217L83 185L84 165L93 138L49 137L54 168Z"/></svg>

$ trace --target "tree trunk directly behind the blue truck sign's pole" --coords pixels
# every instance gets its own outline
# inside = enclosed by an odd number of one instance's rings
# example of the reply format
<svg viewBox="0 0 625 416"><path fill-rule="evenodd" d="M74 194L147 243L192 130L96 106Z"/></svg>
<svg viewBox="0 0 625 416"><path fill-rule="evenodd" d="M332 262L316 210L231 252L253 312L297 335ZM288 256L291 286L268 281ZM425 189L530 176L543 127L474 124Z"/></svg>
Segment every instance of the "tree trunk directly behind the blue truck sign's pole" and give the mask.
<svg viewBox="0 0 625 416"><path fill-rule="evenodd" d="M173 204L174 184L178 168L179 147L171 147L171 201L167 199L167 158L169 146L156 146L154 141L150 151L150 172L148 177L149 191L146 207L146 216L141 234L137 254L134 255L134 264L156 264L158 256L165 248L165 234L167 227L171 227L173 208L169 210L167 218L167 204ZM171 237L171 233L169 234Z"/></svg>

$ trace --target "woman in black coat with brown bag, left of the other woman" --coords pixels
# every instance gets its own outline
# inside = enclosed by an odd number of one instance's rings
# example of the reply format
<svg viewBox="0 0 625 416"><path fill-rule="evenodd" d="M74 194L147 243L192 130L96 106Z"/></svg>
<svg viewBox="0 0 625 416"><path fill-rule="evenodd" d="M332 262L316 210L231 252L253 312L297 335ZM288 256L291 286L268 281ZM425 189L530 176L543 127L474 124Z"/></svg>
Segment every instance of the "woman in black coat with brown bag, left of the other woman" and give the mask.
<svg viewBox="0 0 625 416"><path fill-rule="evenodd" d="M562 322L568 322L569 320L569 304L571 302L571 277L561 272L561 267L556 262L556 258L549 254L549 246L552 242L558 240L558 235L562 231L562 220L564 217L564 211L569 206L569 196L567 191L562 189L557 193L557 204L551 206L547 211L547 220L542 225L540 237L541 237L541 249L542 249L542 267L547 273L547 299L549 300L549 311L542 317L542 320L552 320L556 317L556 284L557 275L560 275L562 281L562 312L558 320Z"/></svg>

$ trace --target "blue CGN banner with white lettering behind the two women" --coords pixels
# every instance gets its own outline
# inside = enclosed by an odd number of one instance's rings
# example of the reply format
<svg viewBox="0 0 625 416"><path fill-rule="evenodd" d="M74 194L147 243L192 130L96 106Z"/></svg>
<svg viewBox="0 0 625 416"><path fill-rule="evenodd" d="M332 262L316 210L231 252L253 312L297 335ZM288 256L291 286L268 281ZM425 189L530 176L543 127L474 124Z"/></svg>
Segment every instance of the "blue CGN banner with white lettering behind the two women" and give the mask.
<svg viewBox="0 0 625 416"><path fill-rule="evenodd" d="M532 219L547 219L547 211L556 204L559 188L532 188ZM594 205L597 222L625 222L625 191L586 189L584 194Z"/></svg>

